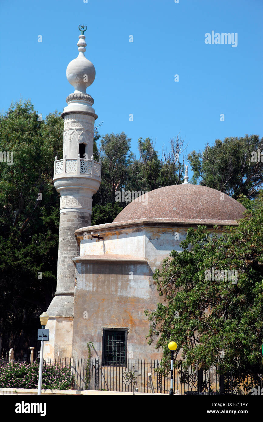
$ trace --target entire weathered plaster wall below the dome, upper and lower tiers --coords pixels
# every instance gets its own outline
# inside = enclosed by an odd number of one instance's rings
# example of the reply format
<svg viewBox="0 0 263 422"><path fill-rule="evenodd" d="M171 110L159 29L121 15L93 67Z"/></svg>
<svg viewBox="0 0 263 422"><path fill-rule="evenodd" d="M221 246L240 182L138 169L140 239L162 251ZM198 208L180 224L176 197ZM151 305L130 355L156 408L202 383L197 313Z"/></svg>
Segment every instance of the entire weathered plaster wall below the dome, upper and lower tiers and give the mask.
<svg viewBox="0 0 263 422"><path fill-rule="evenodd" d="M81 240L80 259L76 260L73 357L87 357L87 342L92 341L95 346L92 357L101 360L103 328L128 330L127 358L129 352L134 359L162 356L155 345L147 345L149 321L144 311L156 309L157 303L162 301L152 274L171 250L181 250L179 244L186 238L188 227L171 224L114 231L98 228L93 234L100 233L103 241L90 239L89 234L88 239ZM88 229L90 233L91 228ZM135 259L129 262L127 255ZM136 262L136 257L145 262Z"/></svg>

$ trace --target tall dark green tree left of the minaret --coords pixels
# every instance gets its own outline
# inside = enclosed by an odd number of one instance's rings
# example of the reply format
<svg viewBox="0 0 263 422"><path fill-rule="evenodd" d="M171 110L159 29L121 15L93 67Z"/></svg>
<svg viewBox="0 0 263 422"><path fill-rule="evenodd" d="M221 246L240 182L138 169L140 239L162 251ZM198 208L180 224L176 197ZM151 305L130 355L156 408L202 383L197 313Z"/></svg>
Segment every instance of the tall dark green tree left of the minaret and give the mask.
<svg viewBox="0 0 263 422"><path fill-rule="evenodd" d="M35 344L39 314L52 300L57 279L59 195L52 182L62 156L63 119L39 121L30 101L0 116L0 336L2 352Z"/></svg>

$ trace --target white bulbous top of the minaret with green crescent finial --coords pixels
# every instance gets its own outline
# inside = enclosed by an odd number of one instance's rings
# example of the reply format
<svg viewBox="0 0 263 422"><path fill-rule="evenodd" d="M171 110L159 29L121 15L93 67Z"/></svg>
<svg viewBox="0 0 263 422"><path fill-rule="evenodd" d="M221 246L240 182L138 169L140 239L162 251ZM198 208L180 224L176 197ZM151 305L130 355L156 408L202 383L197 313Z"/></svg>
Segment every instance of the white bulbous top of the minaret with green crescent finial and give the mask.
<svg viewBox="0 0 263 422"><path fill-rule="evenodd" d="M71 85L75 88L74 92L82 92L86 94L86 89L95 79L95 68L88 59L86 59L84 53L86 51L87 43L85 42L84 31L86 31L87 26L80 26L79 30L81 35L79 35L79 42L77 43L79 55L76 59L71 60L68 64L66 70L66 76Z"/></svg>

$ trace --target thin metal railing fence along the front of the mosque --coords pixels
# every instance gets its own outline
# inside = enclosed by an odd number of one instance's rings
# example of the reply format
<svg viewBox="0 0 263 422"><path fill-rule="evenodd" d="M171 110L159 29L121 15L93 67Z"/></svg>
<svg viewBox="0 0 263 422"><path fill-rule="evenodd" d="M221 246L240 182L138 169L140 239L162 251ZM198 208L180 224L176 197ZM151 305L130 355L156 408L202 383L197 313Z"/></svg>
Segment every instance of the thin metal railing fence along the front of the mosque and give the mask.
<svg viewBox="0 0 263 422"><path fill-rule="evenodd" d="M2 366L8 361L2 361ZM53 368L57 379L63 371L72 375L73 390L107 390L119 392L166 393L170 391L170 378L160 371L159 360L128 360L126 366L102 365L98 359L63 358L46 359L43 371ZM64 368L64 369L63 369ZM54 372L55 371L55 372ZM64 372L65 373L65 372ZM70 381L71 382L71 381ZM260 385L258 373L223 373L217 365L209 370L183 368L174 370L174 394L249 394Z"/></svg>

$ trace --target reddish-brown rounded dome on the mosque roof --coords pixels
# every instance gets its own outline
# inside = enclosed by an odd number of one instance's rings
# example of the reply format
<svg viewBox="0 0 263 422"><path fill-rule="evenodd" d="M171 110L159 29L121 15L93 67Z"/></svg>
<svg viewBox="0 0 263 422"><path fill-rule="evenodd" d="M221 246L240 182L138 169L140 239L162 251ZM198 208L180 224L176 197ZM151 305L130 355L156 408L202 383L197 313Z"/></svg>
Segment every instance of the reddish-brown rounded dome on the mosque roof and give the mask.
<svg viewBox="0 0 263 422"><path fill-rule="evenodd" d="M216 189L180 184L161 187L134 199L114 222L137 219L233 222L243 218L245 211L238 201Z"/></svg>

